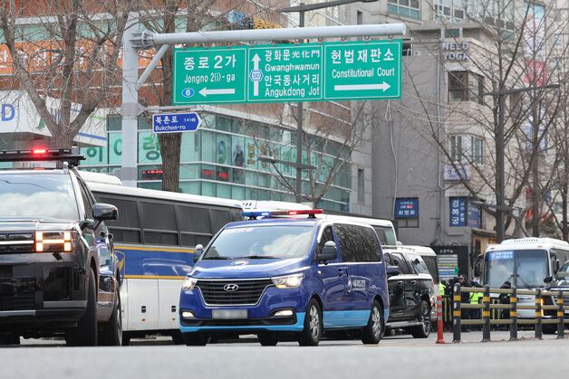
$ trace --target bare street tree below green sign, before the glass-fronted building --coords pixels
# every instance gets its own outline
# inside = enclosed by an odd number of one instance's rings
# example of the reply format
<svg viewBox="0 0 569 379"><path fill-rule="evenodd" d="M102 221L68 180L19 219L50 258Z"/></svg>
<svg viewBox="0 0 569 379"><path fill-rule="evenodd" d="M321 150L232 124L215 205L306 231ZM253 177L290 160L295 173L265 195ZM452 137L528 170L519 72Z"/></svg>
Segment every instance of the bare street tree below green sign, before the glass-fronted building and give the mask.
<svg viewBox="0 0 569 379"><path fill-rule="evenodd" d="M290 140L275 141L274 137L269 136L269 128L246 130L254 139L259 155L269 158L261 166L270 169L285 190L315 208L320 206L332 185L338 184L341 179L351 180L352 153L364 141L371 139L372 115L376 113L376 108L375 102L366 100L345 104L314 102L304 109L301 193L298 193L295 183L297 165L293 151L296 147L290 146ZM274 107L275 124L293 135L298 123L296 109L295 104ZM298 141L292 145L296 143ZM347 178L344 177L346 175Z"/></svg>

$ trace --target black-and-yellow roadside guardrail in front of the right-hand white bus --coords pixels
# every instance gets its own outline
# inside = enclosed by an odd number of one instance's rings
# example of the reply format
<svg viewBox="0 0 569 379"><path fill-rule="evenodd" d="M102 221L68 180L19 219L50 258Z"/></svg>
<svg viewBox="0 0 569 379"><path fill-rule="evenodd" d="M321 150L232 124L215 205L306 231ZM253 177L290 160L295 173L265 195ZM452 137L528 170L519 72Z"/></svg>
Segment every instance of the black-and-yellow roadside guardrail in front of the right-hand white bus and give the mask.
<svg viewBox="0 0 569 379"><path fill-rule="evenodd" d="M482 304L462 303L462 293L482 293ZM509 304L492 303L490 294L505 294L509 298ZM535 297L533 305L518 305L519 295L530 295ZM544 325L556 325L557 338L561 339L565 336L565 323L569 323L569 318L564 318L565 310L569 310L569 306L564 305L563 291L545 291L542 289L490 289L489 286L479 287L461 287L455 284L452 298L452 333L453 343L460 342L460 333L462 326L478 325L482 326L482 341L490 341L490 330L493 325L506 325L510 329L510 340L517 339L517 327L520 325L535 325L535 338L541 339L543 336ZM554 304L544 304L544 298L555 299ZM482 318L462 319L463 309L480 309ZM518 318L517 311L520 309L535 310L534 318ZM509 311L508 318L494 319L492 311L501 310ZM545 318L545 310L554 310L555 317Z"/></svg>

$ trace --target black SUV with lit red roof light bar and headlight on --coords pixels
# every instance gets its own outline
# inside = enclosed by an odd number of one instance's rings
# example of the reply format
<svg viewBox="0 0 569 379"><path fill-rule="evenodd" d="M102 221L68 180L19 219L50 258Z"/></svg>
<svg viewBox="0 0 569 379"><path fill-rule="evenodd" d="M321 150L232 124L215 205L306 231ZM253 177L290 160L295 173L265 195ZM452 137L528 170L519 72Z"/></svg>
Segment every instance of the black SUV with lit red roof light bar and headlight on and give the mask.
<svg viewBox="0 0 569 379"><path fill-rule="evenodd" d="M0 152L0 162L53 162L0 170L0 343L64 334L72 346L121 345L119 262L102 223L117 208L95 203L80 159Z"/></svg>

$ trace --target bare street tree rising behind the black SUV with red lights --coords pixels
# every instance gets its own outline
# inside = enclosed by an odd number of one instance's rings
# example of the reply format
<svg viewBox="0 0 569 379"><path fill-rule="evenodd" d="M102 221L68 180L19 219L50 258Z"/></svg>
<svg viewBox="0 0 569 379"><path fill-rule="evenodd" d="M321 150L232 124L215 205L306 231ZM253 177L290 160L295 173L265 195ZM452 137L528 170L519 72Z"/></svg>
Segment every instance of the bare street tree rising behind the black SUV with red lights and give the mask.
<svg viewBox="0 0 569 379"><path fill-rule="evenodd" d="M54 147L70 148L92 112L111 107L120 95L130 0L2 3L0 31L12 73L5 85L25 91Z"/></svg>

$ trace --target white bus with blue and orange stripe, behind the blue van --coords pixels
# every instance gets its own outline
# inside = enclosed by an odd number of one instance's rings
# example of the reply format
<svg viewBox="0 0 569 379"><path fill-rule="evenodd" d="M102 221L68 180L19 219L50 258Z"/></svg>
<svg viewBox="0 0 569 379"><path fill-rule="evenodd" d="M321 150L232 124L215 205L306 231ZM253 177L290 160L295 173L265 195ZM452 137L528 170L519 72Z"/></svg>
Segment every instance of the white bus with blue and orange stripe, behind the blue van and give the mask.
<svg viewBox="0 0 569 379"><path fill-rule="evenodd" d="M195 247L242 220L241 202L103 184L102 176L91 176L83 175L97 201L119 209L119 219L107 225L121 260L123 344L156 334L181 344L179 291Z"/></svg>

